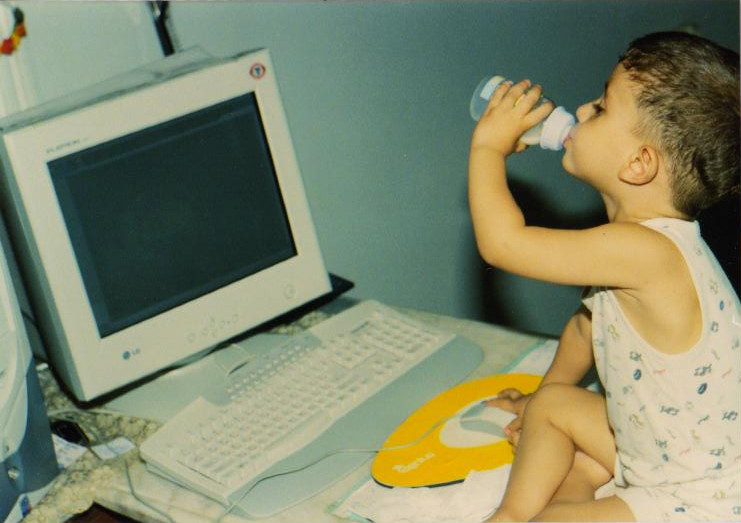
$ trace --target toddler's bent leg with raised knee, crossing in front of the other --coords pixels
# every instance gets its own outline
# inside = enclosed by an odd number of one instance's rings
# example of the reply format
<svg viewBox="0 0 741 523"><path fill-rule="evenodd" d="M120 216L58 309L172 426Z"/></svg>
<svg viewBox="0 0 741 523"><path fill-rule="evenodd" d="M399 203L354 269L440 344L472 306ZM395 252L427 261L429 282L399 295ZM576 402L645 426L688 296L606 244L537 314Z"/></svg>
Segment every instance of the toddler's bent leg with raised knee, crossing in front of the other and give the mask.
<svg viewBox="0 0 741 523"><path fill-rule="evenodd" d="M568 385L542 388L525 410L507 490L492 519L527 521L539 514L569 474L577 449L612 470L615 440L604 398Z"/></svg>

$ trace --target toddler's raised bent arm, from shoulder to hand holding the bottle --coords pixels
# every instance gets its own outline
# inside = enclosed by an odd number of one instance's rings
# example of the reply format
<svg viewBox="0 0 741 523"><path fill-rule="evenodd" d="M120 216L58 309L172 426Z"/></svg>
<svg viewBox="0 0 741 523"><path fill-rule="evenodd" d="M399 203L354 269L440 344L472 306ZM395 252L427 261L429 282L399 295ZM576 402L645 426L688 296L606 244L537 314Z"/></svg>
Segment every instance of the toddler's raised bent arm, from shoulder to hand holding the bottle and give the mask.
<svg viewBox="0 0 741 523"><path fill-rule="evenodd" d="M490 265L529 278L643 288L678 259L674 246L660 233L637 223L586 230L525 223L507 186L505 160L521 149L520 136L552 110L550 103L533 108L539 97L540 88L530 88L528 81L500 85L474 131L469 205L479 252Z"/></svg>

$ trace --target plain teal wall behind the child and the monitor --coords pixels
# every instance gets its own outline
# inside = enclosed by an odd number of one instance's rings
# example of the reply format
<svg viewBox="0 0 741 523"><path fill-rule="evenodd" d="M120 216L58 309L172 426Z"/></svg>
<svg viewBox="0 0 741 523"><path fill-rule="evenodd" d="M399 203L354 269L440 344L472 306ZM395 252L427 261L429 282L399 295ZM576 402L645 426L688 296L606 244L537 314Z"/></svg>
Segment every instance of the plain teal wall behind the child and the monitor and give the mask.
<svg viewBox="0 0 741 523"><path fill-rule="evenodd" d="M328 268L353 294L556 334L579 289L479 260L466 203L471 91L529 77L567 109L599 96L634 37L693 25L738 49L738 3L710 0L174 2L179 45L267 47ZM559 154L510 162L528 219L601 219Z"/></svg>

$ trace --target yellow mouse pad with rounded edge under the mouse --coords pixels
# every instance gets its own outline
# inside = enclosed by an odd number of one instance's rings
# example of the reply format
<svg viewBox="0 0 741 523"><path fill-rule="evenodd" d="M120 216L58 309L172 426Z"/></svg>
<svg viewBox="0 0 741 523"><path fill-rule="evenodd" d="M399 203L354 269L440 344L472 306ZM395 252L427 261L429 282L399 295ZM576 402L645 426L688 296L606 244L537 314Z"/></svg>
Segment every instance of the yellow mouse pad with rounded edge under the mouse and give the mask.
<svg viewBox="0 0 741 523"><path fill-rule="evenodd" d="M461 415L503 389L533 392L542 378L500 374L439 394L386 440L383 446L391 448L377 454L371 466L373 479L387 487L442 486L463 481L472 470L511 463L512 449L506 439L462 429Z"/></svg>

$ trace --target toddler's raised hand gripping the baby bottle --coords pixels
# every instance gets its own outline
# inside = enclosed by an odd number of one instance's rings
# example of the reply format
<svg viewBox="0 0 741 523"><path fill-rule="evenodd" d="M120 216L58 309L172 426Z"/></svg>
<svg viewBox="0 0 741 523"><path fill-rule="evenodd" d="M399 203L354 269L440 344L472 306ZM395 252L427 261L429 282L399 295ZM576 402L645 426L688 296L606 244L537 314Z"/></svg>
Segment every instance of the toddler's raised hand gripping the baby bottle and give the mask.
<svg viewBox="0 0 741 523"><path fill-rule="evenodd" d="M531 87L529 80L499 84L473 132L471 148L490 149L503 156L523 151L527 145L520 137L553 111L550 101L535 107L540 94L540 86Z"/></svg>

